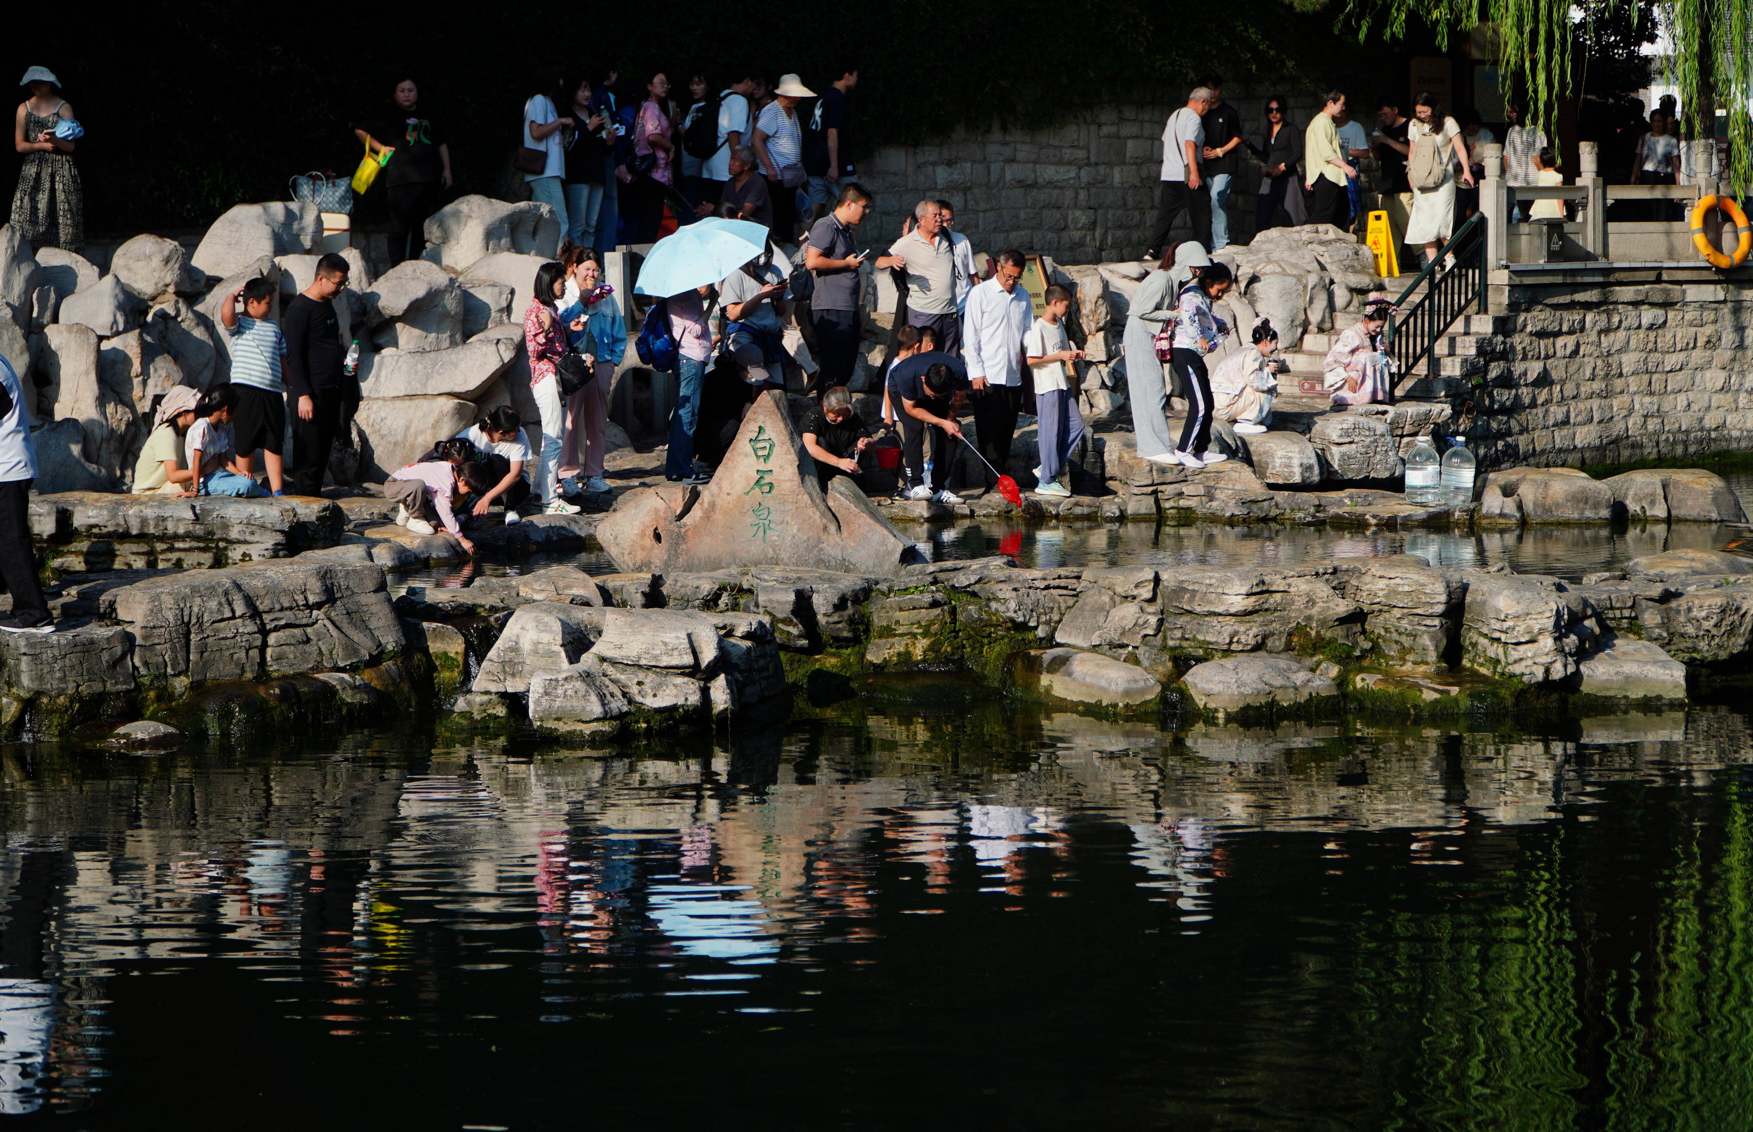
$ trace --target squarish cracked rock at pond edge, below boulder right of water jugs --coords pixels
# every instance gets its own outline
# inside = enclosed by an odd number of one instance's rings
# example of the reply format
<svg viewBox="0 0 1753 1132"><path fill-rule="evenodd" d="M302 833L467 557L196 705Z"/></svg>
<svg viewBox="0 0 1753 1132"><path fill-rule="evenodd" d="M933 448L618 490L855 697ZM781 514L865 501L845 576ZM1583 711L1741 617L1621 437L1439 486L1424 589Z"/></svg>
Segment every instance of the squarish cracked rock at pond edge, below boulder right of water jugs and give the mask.
<svg viewBox="0 0 1753 1132"><path fill-rule="evenodd" d="M1529 683L1564 680L1576 671L1592 610L1565 601L1560 582L1537 575L1467 571L1462 661L1474 671Z"/></svg>

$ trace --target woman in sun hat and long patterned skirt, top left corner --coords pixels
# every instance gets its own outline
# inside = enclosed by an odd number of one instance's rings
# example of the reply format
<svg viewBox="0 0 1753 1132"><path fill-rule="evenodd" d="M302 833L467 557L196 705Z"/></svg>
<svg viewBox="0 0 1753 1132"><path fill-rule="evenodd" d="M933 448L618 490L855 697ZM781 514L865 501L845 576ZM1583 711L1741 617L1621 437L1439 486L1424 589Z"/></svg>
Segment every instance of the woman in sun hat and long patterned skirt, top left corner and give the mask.
<svg viewBox="0 0 1753 1132"><path fill-rule="evenodd" d="M61 82L47 67L32 67L19 81L30 98L18 103L12 147L25 154L12 195L12 230L30 240L32 251L86 247L86 202L74 168L74 142L54 137L74 107L61 98Z"/></svg>

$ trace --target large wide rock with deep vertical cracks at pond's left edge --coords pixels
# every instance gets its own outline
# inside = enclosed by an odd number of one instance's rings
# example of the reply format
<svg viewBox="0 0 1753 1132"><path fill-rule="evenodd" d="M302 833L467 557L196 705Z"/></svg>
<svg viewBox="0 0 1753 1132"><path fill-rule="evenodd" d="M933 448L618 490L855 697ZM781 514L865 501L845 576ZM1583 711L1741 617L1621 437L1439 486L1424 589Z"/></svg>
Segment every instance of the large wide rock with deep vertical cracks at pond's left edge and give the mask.
<svg viewBox="0 0 1753 1132"><path fill-rule="evenodd" d="M133 634L137 671L193 683L340 669L405 643L377 566L289 561L174 573L103 601Z"/></svg>

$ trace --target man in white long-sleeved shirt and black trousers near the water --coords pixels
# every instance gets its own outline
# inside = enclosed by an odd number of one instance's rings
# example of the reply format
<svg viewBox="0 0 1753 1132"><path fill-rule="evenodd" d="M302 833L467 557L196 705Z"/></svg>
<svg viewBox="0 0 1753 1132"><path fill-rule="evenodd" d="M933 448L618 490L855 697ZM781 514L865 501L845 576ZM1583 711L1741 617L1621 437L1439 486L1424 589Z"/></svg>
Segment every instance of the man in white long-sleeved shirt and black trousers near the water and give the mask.
<svg viewBox="0 0 1753 1132"><path fill-rule="evenodd" d="M1004 475L1010 440L1017 433L1024 393L1022 373L1027 368L1022 340L1034 322L1029 293L1017 286L1020 279L1022 252L999 252L992 279L968 293L968 317L962 322L962 350L973 384L978 449L997 475Z"/></svg>

